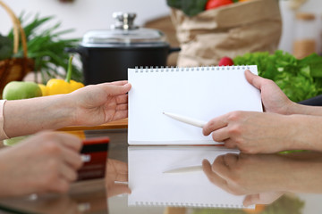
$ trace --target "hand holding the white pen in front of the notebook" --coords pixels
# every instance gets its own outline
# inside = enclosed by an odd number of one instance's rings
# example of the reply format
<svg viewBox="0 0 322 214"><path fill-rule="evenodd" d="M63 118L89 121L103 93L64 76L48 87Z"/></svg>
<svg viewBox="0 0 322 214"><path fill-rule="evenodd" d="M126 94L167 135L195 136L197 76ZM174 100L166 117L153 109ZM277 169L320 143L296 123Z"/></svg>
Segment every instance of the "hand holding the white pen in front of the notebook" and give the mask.
<svg viewBox="0 0 322 214"><path fill-rule="evenodd" d="M296 129L287 117L275 113L232 111L208 121L203 134L211 134L214 141L224 142L227 148L239 148L245 153L290 150Z"/></svg>

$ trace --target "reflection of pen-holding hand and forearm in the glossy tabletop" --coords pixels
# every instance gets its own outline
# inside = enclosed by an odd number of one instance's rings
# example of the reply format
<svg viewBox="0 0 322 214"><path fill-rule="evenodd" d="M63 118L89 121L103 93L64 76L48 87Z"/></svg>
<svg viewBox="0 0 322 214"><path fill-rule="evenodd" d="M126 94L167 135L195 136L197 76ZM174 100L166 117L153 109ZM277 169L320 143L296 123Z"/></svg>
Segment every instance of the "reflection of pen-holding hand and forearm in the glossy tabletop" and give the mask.
<svg viewBox="0 0 322 214"><path fill-rule="evenodd" d="M285 192L322 193L322 153L234 154L202 162L213 184L228 193L246 194L244 205L268 204ZM319 178L316 178L319 177Z"/></svg>

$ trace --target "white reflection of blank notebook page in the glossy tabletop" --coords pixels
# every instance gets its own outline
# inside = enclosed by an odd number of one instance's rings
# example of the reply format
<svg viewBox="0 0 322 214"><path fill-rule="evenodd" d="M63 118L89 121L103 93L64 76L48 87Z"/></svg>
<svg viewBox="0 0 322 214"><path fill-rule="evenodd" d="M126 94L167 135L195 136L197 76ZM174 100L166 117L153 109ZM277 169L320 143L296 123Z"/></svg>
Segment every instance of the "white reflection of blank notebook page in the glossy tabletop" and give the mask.
<svg viewBox="0 0 322 214"><path fill-rule="evenodd" d="M224 146L129 146L129 206L243 208L244 196L213 185L201 170L165 173L166 170L212 163L218 155L238 152ZM250 209L254 206L248 207Z"/></svg>

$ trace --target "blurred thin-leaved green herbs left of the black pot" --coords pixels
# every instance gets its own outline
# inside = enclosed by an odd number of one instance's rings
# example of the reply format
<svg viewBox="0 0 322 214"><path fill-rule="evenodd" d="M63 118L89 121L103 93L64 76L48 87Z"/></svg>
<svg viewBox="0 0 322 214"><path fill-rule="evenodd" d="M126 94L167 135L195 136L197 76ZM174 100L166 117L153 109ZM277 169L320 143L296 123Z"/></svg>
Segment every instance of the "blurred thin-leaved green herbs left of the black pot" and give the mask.
<svg viewBox="0 0 322 214"><path fill-rule="evenodd" d="M41 80L44 84L50 78L65 77L66 70L64 68L68 64L69 53L66 53L64 49L74 47L80 41L79 38L62 38L63 35L72 32L72 29L58 30L61 27L60 22L48 27L48 22L54 18L54 16L40 18L36 14L32 21L26 23L30 20L30 16L25 15L23 12L20 16L21 25L27 37L28 57L35 60L35 70L40 71ZM13 30L8 37L13 39ZM21 56L22 49L14 57ZM72 65L72 67L72 79L82 81L80 68L75 65Z"/></svg>

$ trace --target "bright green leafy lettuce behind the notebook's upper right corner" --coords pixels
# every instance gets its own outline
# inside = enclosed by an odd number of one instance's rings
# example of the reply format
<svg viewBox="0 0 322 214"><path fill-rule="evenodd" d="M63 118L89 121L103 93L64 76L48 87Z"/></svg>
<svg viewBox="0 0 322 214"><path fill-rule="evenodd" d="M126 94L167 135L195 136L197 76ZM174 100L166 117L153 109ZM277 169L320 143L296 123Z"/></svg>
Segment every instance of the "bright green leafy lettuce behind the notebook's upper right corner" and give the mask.
<svg viewBox="0 0 322 214"><path fill-rule="evenodd" d="M258 65L258 75L275 81L293 102L322 92L322 57L314 53L298 60L291 53L246 53L233 59L235 65Z"/></svg>

